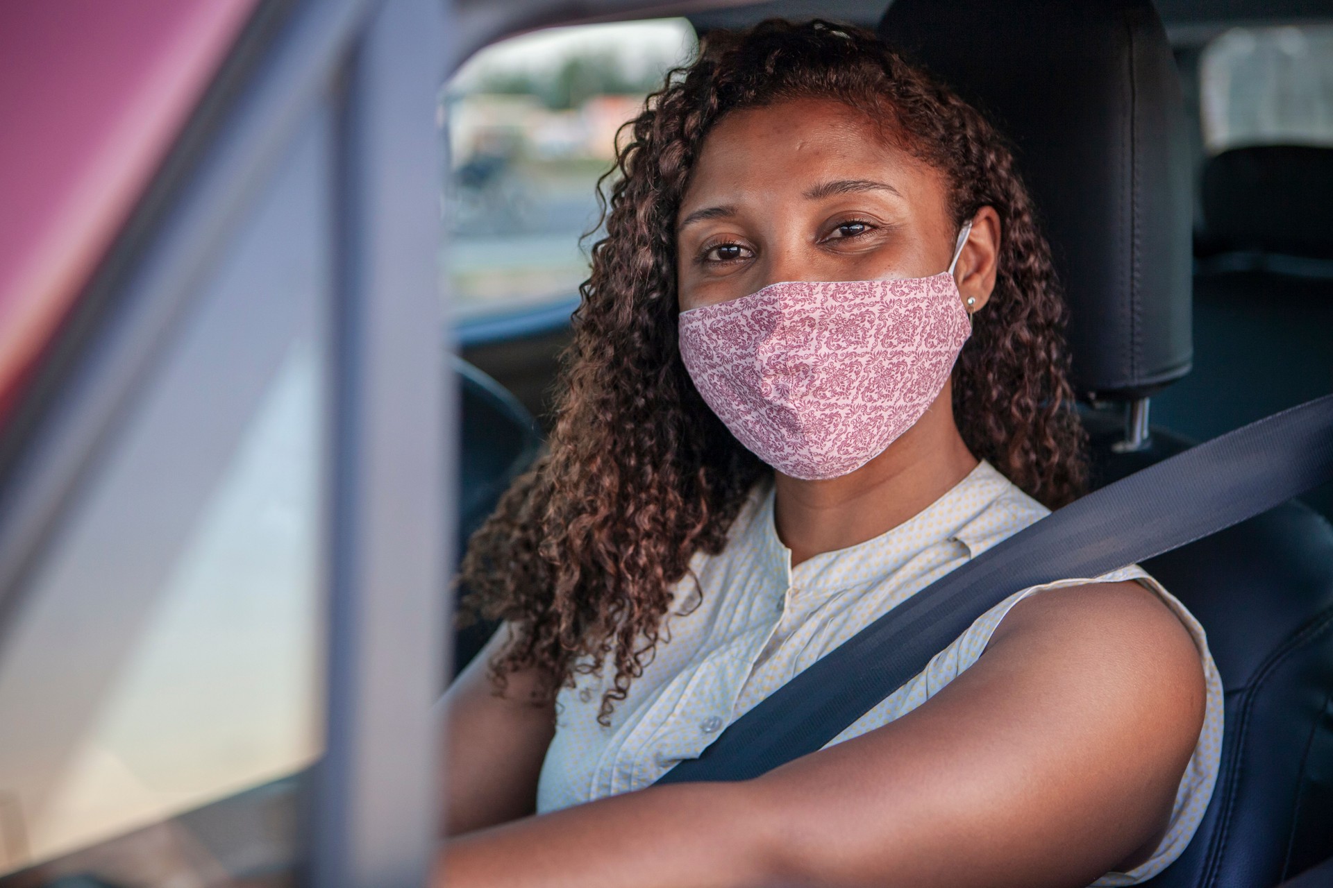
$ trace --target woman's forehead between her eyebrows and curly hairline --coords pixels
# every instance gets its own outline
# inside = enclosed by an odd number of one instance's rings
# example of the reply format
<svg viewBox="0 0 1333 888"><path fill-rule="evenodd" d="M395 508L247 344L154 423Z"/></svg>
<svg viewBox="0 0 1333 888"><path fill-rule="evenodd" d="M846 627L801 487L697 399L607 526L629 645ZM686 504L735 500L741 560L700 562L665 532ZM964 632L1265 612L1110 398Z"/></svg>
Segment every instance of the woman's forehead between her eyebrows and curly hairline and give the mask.
<svg viewBox="0 0 1333 888"><path fill-rule="evenodd" d="M894 145L866 112L833 99L794 99L722 117L704 137L682 209L712 197L798 192L849 177L890 177L904 194L940 186L936 170Z"/></svg>

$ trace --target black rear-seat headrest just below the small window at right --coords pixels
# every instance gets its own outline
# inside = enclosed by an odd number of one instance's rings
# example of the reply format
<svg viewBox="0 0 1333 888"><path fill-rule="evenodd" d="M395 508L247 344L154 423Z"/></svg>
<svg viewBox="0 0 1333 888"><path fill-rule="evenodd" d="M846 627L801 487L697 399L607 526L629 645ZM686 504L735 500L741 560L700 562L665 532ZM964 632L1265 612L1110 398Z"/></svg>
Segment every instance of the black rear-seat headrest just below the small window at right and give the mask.
<svg viewBox="0 0 1333 888"><path fill-rule="evenodd" d="M1204 166L1204 230L1210 250L1333 258L1330 205L1333 148L1234 148Z"/></svg>

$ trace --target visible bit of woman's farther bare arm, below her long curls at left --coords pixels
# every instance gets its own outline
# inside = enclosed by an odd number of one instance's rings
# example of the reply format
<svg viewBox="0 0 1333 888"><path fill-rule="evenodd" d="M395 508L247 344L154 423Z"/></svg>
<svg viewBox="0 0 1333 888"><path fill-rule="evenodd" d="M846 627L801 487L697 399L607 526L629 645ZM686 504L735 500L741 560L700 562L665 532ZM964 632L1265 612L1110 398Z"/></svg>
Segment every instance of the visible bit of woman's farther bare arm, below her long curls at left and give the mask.
<svg viewBox="0 0 1333 888"><path fill-rule="evenodd" d="M552 703L533 703L541 675L511 675L497 696L487 663L501 650L501 628L439 703L445 835L492 827L536 811L537 776L556 732Z"/></svg>

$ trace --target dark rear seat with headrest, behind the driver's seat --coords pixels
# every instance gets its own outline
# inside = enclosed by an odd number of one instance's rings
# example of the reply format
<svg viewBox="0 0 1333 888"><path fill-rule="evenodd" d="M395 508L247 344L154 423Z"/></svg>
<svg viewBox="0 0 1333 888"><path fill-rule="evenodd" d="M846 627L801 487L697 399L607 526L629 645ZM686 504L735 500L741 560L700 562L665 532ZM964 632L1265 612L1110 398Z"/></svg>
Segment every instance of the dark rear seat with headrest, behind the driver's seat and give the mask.
<svg viewBox="0 0 1333 888"><path fill-rule="evenodd" d="M1201 185L1194 369L1153 403L1200 439L1333 391L1333 148L1234 148ZM1333 518L1333 486L1302 499Z"/></svg>

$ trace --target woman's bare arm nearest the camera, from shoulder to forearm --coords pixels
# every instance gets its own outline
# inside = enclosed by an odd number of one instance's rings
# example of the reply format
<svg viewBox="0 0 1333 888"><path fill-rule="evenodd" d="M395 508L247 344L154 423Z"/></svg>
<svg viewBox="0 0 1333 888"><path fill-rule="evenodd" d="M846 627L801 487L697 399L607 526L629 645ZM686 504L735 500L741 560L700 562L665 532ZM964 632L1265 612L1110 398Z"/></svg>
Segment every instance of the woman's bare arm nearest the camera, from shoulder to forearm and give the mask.
<svg viewBox="0 0 1333 888"><path fill-rule="evenodd" d="M475 832L437 885L1086 885L1148 857L1204 719L1200 655L1137 583L1020 602L904 718L744 783Z"/></svg>

